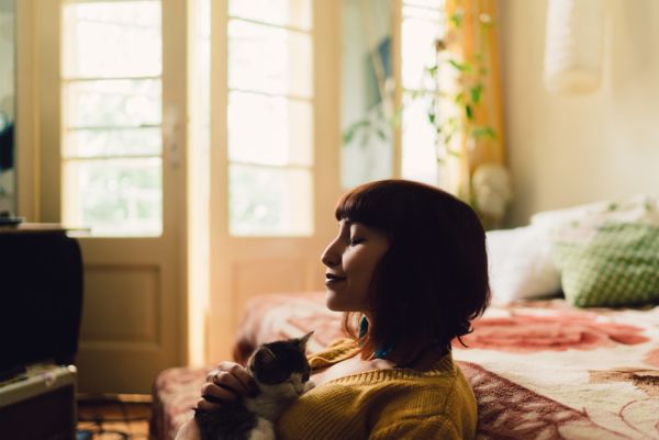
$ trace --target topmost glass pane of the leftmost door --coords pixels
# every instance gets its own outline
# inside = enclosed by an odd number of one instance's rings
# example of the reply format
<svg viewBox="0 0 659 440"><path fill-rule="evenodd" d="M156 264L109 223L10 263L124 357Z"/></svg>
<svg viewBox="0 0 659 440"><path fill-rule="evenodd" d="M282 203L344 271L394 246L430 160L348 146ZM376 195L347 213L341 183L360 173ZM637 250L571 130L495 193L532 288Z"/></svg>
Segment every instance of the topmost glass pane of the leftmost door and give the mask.
<svg viewBox="0 0 659 440"><path fill-rule="evenodd" d="M68 3L64 29L65 78L160 75L159 1Z"/></svg>

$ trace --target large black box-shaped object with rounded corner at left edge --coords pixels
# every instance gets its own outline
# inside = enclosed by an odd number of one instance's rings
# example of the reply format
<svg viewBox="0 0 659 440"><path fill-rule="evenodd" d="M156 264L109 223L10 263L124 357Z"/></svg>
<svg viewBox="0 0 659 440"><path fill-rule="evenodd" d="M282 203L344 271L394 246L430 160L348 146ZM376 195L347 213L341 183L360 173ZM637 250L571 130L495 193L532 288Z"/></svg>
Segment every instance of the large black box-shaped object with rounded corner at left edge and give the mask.
<svg viewBox="0 0 659 440"><path fill-rule="evenodd" d="M0 381L35 362L72 363L82 258L64 230L0 228Z"/></svg>

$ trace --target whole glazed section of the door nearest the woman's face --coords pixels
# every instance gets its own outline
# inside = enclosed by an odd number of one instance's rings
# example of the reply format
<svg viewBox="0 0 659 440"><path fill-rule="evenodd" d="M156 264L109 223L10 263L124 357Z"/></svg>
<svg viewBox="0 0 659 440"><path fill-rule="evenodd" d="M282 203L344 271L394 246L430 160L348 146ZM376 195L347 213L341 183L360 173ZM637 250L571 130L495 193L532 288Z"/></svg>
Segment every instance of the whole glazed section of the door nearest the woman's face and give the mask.
<svg viewBox="0 0 659 440"><path fill-rule="evenodd" d="M313 234L311 0L228 2L234 236Z"/></svg>

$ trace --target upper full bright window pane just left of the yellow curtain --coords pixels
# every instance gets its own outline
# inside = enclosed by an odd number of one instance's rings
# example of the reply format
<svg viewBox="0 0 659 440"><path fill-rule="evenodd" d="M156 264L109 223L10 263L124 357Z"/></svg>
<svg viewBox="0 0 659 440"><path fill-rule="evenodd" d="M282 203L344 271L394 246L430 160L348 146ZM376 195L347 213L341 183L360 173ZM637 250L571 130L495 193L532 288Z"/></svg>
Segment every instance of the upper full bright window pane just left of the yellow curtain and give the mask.
<svg viewBox="0 0 659 440"><path fill-rule="evenodd" d="M425 69L436 65L435 41L443 34L437 21L404 19L402 24L402 77L404 89L432 90Z"/></svg>

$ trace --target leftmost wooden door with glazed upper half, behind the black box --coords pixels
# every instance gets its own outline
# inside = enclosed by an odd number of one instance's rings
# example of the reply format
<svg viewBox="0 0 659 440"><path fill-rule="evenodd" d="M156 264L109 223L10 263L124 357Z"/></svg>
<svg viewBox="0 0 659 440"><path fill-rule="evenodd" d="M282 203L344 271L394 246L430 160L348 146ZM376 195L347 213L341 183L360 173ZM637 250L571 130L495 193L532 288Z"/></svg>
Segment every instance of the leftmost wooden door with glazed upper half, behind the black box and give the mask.
<svg viewBox="0 0 659 440"><path fill-rule="evenodd" d="M79 391L149 393L186 345L186 4L38 0L37 215L77 234Z"/></svg>

